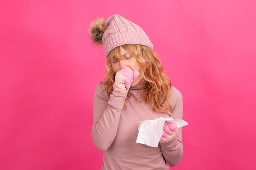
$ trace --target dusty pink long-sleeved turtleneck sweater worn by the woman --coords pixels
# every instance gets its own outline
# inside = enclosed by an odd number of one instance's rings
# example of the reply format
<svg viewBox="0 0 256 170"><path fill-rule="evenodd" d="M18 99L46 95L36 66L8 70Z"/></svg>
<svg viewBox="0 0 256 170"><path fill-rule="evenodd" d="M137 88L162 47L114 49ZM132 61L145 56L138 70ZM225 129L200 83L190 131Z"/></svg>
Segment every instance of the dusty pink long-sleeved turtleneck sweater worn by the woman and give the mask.
<svg viewBox="0 0 256 170"><path fill-rule="evenodd" d="M92 137L95 146L104 152L101 170L169 170L178 164L183 156L181 128L167 144L149 147L136 143L140 122L147 119L170 116L170 113L156 113L149 105L139 102L143 91L141 81L129 89L131 98L127 109L122 111L126 94L113 91L108 97L106 91L97 85L93 100ZM183 101L177 88L170 90L173 119L182 119Z"/></svg>

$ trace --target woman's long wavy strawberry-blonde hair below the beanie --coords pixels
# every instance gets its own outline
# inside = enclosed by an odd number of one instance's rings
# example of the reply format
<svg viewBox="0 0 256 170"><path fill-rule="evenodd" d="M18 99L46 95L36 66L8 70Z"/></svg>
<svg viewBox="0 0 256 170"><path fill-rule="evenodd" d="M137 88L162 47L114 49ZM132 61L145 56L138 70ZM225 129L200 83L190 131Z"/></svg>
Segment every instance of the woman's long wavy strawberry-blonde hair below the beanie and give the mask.
<svg viewBox="0 0 256 170"><path fill-rule="evenodd" d="M122 56L121 48L127 51L131 56L136 57L140 64L143 79L145 79L145 89L140 94L140 102L145 102L150 105L157 113L172 113L172 106L169 101L170 88L172 86L171 80L164 74L163 67L157 54L149 47L137 44L126 44L114 48L108 55L106 61L106 69L104 79L100 82L105 85L105 90L108 96L113 91L113 84L115 82L115 72L112 68L112 61L118 60ZM130 94L128 92L127 99L124 103L124 110L127 108Z"/></svg>

